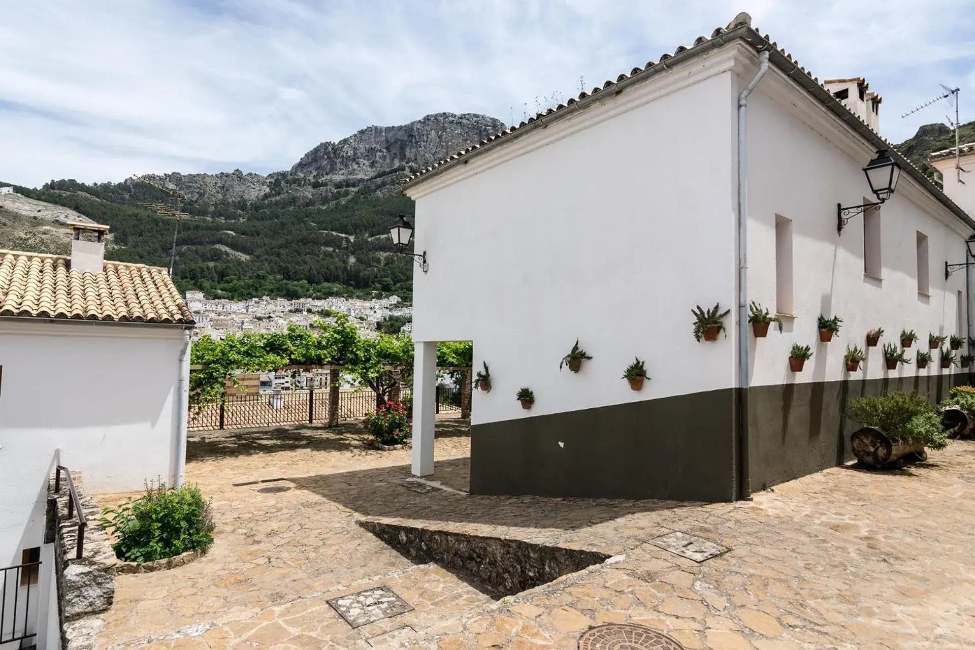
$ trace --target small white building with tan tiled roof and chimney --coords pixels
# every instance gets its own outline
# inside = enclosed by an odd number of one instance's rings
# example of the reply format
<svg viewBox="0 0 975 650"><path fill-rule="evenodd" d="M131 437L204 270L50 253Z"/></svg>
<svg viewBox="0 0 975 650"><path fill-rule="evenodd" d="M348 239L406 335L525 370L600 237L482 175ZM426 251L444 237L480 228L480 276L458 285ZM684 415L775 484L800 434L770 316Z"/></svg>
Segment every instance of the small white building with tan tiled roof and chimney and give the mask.
<svg viewBox="0 0 975 650"><path fill-rule="evenodd" d="M124 492L178 484L185 462L192 315L166 269L104 262L107 227L71 227L70 256L0 250L0 568L41 561L29 600L14 573L4 583L4 638L27 615L38 647L59 647L44 540L54 466Z"/></svg>

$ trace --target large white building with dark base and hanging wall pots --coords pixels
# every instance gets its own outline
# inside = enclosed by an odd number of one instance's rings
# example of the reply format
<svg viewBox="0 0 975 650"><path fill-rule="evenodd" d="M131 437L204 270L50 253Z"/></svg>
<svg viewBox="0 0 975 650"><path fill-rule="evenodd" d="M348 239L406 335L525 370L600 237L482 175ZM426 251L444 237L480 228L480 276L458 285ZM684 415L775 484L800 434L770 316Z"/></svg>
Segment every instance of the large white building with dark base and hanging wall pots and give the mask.
<svg viewBox="0 0 975 650"><path fill-rule="evenodd" d="M414 174L413 474L434 472L437 341L472 340L490 368L472 493L747 497L849 459L850 399L966 380L937 357L888 371L865 347L875 327L881 343L968 332L965 273L942 269L975 222L891 151L896 191L839 234L838 205L877 201L863 168L890 145L837 90L743 14ZM754 337L753 300L781 332ZM690 310L716 303L727 335L698 343ZM820 314L843 319L831 343ZM560 371L577 338L593 359ZM794 343L814 353L801 372ZM856 373L847 345L868 352ZM621 379L634 357L641 392Z"/></svg>

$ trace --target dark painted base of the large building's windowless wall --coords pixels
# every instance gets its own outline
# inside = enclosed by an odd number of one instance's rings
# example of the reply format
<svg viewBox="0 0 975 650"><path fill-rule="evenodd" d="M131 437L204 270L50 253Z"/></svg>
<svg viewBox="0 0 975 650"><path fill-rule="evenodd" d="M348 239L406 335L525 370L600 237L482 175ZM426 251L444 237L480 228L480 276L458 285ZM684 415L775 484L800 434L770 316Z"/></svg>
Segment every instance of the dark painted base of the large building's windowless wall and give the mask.
<svg viewBox="0 0 975 650"><path fill-rule="evenodd" d="M471 427L472 494L734 496L731 389Z"/></svg>

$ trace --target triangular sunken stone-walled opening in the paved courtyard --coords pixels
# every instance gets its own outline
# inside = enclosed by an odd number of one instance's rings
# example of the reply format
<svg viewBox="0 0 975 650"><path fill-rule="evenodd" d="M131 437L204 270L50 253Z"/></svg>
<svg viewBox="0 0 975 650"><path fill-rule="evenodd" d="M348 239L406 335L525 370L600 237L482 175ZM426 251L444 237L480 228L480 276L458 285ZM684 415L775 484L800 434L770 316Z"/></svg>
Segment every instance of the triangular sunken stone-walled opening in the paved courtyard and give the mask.
<svg viewBox="0 0 975 650"><path fill-rule="evenodd" d="M360 520L359 525L410 561L433 562L494 599L550 583L610 557L595 551L368 519Z"/></svg>

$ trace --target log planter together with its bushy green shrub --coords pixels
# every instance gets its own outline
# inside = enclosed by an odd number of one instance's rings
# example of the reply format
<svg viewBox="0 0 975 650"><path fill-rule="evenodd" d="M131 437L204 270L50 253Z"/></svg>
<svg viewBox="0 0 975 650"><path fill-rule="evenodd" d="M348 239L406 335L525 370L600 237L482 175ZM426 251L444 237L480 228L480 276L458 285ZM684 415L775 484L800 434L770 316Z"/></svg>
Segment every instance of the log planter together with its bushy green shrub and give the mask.
<svg viewBox="0 0 975 650"><path fill-rule="evenodd" d="M924 447L943 449L948 444L934 406L917 393L853 400L846 415L863 425L850 436L850 447L866 467L901 467L907 456L923 461Z"/></svg>

